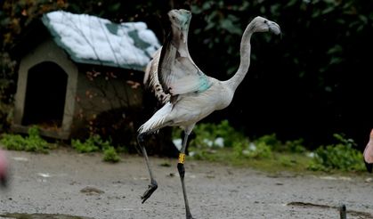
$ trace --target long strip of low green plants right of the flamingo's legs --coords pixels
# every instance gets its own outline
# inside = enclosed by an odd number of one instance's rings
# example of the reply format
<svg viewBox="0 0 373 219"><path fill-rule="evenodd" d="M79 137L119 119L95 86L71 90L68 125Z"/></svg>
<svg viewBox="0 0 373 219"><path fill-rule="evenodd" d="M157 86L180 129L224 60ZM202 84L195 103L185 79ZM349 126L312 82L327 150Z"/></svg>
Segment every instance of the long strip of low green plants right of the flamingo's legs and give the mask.
<svg viewBox="0 0 373 219"><path fill-rule="evenodd" d="M180 136L174 130L174 138ZM337 144L306 150L303 140L281 142L276 134L267 134L250 141L234 131L228 121L220 124L199 124L196 139L190 143L191 158L223 162L238 166L253 166L267 171L341 171L362 172L365 166L362 155L355 149L352 139L334 134ZM223 144L215 140L223 137ZM229 143L227 143L229 142Z"/></svg>

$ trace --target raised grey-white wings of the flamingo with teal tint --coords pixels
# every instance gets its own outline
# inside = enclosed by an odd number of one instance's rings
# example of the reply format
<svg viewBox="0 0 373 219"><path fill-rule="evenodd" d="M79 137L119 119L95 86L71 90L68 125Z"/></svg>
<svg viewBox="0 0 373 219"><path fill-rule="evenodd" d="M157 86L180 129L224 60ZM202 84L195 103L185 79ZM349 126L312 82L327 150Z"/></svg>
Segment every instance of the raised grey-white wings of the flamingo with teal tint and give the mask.
<svg viewBox="0 0 373 219"><path fill-rule="evenodd" d="M144 78L163 103L185 93L203 92L212 85L212 79L197 67L188 51L190 13L176 10L172 14L180 17L172 20L172 31L148 64Z"/></svg>

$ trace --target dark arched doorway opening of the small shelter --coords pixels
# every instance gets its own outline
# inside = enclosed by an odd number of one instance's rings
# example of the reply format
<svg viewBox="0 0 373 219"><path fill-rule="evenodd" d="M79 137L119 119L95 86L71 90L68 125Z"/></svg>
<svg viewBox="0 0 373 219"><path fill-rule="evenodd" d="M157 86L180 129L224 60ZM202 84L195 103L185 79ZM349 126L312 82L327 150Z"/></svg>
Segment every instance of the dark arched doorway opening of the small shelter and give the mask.
<svg viewBox="0 0 373 219"><path fill-rule="evenodd" d="M54 62L29 69L22 125L61 127L67 85L68 75Z"/></svg>

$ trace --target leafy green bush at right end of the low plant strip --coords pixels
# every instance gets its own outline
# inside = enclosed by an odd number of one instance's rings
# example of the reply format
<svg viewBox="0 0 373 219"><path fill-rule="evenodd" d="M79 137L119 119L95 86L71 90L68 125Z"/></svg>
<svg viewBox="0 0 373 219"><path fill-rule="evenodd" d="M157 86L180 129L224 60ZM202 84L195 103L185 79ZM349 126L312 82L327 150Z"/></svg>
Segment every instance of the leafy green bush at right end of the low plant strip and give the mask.
<svg viewBox="0 0 373 219"><path fill-rule="evenodd" d="M338 143L328 146L320 146L314 151L315 156L309 166L312 170L330 171L339 169L342 171L364 171L362 154L354 149L352 139L345 139L340 134L334 134Z"/></svg>

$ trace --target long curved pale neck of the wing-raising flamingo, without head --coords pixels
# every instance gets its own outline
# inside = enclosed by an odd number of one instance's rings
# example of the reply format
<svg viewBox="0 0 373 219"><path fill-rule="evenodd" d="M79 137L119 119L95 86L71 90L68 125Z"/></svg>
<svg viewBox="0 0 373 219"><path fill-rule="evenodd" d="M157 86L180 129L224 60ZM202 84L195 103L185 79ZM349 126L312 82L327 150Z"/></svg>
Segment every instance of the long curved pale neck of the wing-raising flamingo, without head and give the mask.
<svg viewBox="0 0 373 219"><path fill-rule="evenodd" d="M248 67L250 66L250 54L251 54L251 45L250 39L253 35L253 24L249 23L247 28L245 29L244 34L242 35L239 54L240 54L240 62L239 62L239 69L231 77L228 81L226 81L227 85L235 91L239 84L242 82L244 77L247 74Z"/></svg>

